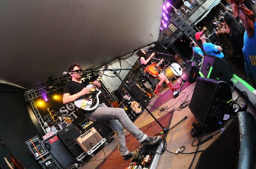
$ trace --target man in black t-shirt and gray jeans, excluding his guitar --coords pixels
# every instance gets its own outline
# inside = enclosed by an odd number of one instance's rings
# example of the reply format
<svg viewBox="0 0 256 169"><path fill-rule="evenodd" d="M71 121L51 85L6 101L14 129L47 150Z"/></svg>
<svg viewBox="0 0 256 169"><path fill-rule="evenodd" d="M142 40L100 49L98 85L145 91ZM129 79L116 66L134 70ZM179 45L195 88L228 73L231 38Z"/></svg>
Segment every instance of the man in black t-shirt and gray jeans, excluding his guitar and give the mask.
<svg viewBox="0 0 256 169"><path fill-rule="evenodd" d="M90 87L87 87L88 83L81 81L82 68L78 64L70 65L69 72L72 80L67 82L64 88L63 103L67 104L81 97L86 97L93 92ZM93 82L100 89L101 85L98 81ZM80 109L81 116L85 118L87 116L90 121L106 121L110 127L116 133L116 141L118 149L122 158L129 159L133 154L130 152L125 144L124 128L128 130L136 139L143 145L154 145L160 142L161 136L149 137L145 135L138 127L133 124L125 110L122 108L107 107L101 101L95 110L85 111Z"/></svg>

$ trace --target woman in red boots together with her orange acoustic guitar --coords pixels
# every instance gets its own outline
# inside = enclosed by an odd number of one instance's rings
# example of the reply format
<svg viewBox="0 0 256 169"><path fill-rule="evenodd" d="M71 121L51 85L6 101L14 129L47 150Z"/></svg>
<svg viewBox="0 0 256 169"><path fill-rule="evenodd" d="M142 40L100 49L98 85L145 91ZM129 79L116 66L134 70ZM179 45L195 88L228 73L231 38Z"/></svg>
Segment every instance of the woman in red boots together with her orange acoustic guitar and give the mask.
<svg viewBox="0 0 256 169"><path fill-rule="evenodd" d="M149 77L151 78L156 78L159 80L159 83L156 87L156 89L154 90L154 93L156 93L157 95L161 96L160 93L160 87L163 84L163 82L166 82L166 84L168 85L168 87L171 88L172 91L176 90L179 88L179 86L174 87L172 85L171 82L169 82L169 80L167 79L166 75L164 75L163 73L159 72L159 70L161 69L161 67L159 66L160 64L162 64L161 60L159 63L156 62L149 62L152 57L155 55L155 53L153 52L152 54L150 54L150 56L148 56L147 52L144 50L139 50L137 52L137 56L140 57L140 62L142 65L145 65L145 73L148 74Z"/></svg>

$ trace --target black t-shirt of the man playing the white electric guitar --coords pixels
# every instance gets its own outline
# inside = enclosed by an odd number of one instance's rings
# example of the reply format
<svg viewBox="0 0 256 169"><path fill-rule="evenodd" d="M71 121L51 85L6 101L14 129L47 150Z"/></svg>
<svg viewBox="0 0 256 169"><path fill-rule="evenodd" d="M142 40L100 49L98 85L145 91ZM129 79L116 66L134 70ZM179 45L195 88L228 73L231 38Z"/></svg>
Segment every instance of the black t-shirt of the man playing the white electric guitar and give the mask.
<svg viewBox="0 0 256 169"><path fill-rule="evenodd" d="M64 93L70 93L70 95L76 94L80 92L84 87L86 87L89 83L84 83L84 82L75 82L75 81L70 81L67 82L65 87L64 87Z"/></svg>

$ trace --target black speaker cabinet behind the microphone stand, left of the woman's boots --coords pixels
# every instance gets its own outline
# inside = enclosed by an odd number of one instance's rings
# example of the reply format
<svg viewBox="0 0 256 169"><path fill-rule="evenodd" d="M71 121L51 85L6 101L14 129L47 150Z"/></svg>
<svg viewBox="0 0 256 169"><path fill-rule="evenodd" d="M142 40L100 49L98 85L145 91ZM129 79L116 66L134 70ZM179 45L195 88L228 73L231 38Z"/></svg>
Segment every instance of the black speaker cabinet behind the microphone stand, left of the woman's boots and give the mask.
<svg viewBox="0 0 256 169"><path fill-rule="evenodd" d="M133 80L130 80L129 82L127 82L127 84L129 85L129 87L131 88L131 90L133 91L134 94L136 94L136 96L138 97L138 99L140 99L140 101L145 102L147 101L147 97L145 96L146 93L144 93L144 91L140 88L139 85L137 85L136 82L134 82ZM131 93L131 91L129 91L128 89L126 89L127 92L129 93L129 95L135 99L136 97L134 96L133 93Z"/></svg>

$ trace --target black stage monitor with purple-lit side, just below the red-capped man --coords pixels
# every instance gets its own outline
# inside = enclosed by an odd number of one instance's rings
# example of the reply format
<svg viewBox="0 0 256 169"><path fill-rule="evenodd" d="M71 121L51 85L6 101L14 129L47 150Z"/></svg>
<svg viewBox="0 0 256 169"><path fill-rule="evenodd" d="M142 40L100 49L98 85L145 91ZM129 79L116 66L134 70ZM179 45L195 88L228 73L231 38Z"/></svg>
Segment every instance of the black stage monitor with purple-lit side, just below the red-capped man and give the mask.
<svg viewBox="0 0 256 169"><path fill-rule="evenodd" d="M228 65L223 59L212 55L204 56L200 72L202 77L225 82L229 81L233 76L233 70L230 65Z"/></svg>

